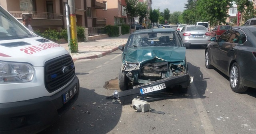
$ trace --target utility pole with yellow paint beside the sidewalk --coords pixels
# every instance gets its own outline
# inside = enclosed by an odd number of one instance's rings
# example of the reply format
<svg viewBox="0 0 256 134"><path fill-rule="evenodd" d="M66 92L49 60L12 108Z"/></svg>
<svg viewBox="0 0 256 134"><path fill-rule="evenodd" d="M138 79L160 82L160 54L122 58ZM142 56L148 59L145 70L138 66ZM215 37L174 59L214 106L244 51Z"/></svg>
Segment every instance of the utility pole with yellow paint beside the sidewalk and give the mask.
<svg viewBox="0 0 256 134"><path fill-rule="evenodd" d="M73 40L77 41L77 32L76 32L76 9L75 9L75 1L74 0L68 0L68 6L70 8L70 25L71 25L71 38ZM77 50L78 52L78 47Z"/></svg>

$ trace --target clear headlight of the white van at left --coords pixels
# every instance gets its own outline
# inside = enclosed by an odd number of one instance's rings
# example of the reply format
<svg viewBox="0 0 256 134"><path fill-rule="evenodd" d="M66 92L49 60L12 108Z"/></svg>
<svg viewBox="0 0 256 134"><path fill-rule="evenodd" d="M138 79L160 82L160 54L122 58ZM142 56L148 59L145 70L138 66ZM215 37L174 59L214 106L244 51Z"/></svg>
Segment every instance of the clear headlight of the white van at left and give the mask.
<svg viewBox="0 0 256 134"><path fill-rule="evenodd" d="M24 83L32 80L34 69L26 63L0 61L0 83Z"/></svg>

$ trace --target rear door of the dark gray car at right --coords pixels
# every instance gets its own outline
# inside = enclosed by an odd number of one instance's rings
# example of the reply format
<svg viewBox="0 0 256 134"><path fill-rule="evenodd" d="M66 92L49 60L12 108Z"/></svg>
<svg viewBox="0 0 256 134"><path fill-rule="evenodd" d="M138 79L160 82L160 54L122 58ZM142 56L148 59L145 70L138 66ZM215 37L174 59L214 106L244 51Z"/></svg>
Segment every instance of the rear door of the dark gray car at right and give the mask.
<svg viewBox="0 0 256 134"><path fill-rule="evenodd" d="M232 32L228 40L220 46L220 69L228 71L229 63L234 58L236 48L242 46L246 41L246 35L242 30L236 29Z"/></svg>

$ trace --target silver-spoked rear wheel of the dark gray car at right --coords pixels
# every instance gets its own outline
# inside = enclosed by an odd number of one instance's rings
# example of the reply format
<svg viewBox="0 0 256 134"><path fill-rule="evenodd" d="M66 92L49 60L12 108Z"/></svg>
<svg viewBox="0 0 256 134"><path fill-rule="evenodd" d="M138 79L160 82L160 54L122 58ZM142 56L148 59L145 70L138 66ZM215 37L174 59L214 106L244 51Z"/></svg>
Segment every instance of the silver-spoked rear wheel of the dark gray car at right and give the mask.
<svg viewBox="0 0 256 134"><path fill-rule="evenodd" d="M245 92L248 87L243 85L243 80L240 73L240 67L238 63L233 63L229 71L229 82L232 91L234 92Z"/></svg>

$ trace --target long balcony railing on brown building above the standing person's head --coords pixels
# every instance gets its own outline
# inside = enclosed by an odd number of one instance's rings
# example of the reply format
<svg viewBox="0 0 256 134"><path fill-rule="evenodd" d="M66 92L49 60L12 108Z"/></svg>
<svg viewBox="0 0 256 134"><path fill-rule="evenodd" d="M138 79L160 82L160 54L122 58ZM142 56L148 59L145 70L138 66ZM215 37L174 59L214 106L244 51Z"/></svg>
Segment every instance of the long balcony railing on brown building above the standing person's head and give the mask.
<svg viewBox="0 0 256 134"><path fill-rule="evenodd" d="M33 19L60 19L61 14L48 12L28 12L28 11L9 11L12 16L17 19L22 19L23 14L31 14Z"/></svg>

